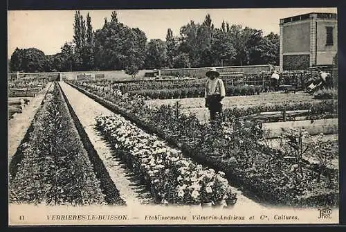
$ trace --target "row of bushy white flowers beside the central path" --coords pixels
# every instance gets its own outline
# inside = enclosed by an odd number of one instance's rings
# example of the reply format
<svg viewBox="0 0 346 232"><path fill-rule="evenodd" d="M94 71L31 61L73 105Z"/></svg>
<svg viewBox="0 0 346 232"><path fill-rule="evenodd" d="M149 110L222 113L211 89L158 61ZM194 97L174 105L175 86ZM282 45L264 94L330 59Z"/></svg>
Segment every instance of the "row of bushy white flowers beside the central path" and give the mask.
<svg viewBox="0 0 346 232"><path fill-rule="evenodd" d="M199 204L234 196L224 172L215 172L183 157L154 134L122 116L98 116L96 125L152 194L163 202Z"/></svg>

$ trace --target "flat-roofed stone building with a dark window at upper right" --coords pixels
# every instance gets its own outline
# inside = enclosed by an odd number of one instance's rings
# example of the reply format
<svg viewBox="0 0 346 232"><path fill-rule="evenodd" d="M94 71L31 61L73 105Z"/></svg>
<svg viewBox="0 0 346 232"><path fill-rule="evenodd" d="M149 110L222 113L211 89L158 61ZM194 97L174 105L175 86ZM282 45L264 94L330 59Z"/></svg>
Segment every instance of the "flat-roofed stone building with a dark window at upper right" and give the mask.
<svg viewBox="0 0 346 232"><path fill-rule="evenodd" d="M338 48L337 28L334 13L280 19L280 71L333 64Z"/></svg>

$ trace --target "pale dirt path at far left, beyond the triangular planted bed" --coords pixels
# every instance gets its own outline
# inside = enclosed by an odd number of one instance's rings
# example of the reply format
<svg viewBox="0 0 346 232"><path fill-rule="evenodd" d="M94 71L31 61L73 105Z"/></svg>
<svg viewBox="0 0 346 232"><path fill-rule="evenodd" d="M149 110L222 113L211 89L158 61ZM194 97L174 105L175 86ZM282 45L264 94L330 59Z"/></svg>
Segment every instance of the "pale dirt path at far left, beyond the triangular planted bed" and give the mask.
<svg viewBox="0 0 346 232"><path fill-rule="evenodd" d="M30 99L28 105L24 107L21 114L17 114L15 118L12 118L10 119L10 121L8 121L8 161L11 160L10 157L15 154L17 148L21 144L22 139L24 139L28 127L30 127L37 109L39 109L41 102L44 99L44 96L46 95L46 92L50 86L51 83L47 84L47 86L42 89L42 91L39 91L39 93L37 93L35 98L25 97Z"/></svg>

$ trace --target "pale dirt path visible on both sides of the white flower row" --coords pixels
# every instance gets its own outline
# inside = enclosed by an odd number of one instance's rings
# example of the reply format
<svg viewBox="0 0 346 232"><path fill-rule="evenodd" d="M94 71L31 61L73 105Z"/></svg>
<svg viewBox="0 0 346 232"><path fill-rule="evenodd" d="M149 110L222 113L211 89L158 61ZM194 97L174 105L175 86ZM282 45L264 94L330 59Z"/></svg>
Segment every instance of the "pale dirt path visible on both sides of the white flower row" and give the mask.
<svg viewBox="0 0 346 232"><path fill-rule="evenodd" d="M80 118L80 122L84 126L84 130L86 134L88 134L91 143L93 143L95 150L100 155L107 170L109 170L109 175L111 175L116 187L120 191L120 197L122 197L127 204L129 204L129 202L136 204L137 201L148 202L149 199L143 197L142 193L138 193L138 188L140 187L136 187L136 184L134 184L136 183L136 179L126 170L125 165L118 159L113 158L109 144L102 139L100 132L95 131L95 116L99 116L100 114L111 114L111 111L85 96L83 93L80 93L80 91L73 89L69 84L61 82L60 85L67 98L69 98L78 118ZM242 190L234 187L232 189L233 192L237 193L238 198L237 204L233 206L233 209L244 209L244 207L262 209L266 207L264 204L259 204L253 199L246 197L242 193ZM141 190L139 190L139 192L140 191ZM143 198L144 200L142 200Z"/></svg>

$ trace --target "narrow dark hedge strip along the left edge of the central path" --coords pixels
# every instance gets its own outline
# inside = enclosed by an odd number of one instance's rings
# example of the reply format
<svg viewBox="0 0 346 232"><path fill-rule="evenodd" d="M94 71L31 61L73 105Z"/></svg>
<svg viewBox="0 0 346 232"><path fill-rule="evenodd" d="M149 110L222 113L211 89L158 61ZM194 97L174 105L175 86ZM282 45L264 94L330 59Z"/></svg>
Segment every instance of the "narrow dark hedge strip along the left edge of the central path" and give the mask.
<svg viewBox="0 0 346 232"><path fill-rule="evenodd" d="M62 93L62 96L66 102L66 105L69 109L71 118L73 119L73 122L75 123L75 127L78 130L78 134L80 134L80 139L83 143L84 149L88 153L88 157L93 164L93 170L95 172L96 177L100 180L100 186L102 189L102 193L106 195L104 198L105 201L108 204L117 204L117 205L125 205L125 201L120 198L119 190L116 188L116 185L111 180L111 177L109 176L109 173L107 171L107 168L104 166L104 163L98 156L98 152L96 152L95 148L93 147L93 144L89 140L88 135L86 134L82 124L80 123L80 120L78 119L78 116L75 114L75 111L71 107L71 104L69 102L69 99L67 99L64 91L62 91L62 87L60 84L58 84L58 87L60 89L60 93Z"/></svg>

